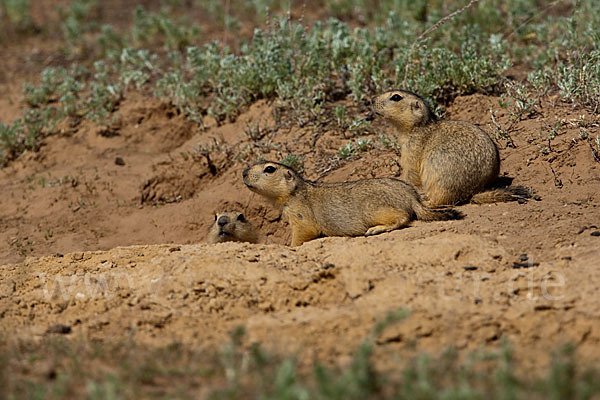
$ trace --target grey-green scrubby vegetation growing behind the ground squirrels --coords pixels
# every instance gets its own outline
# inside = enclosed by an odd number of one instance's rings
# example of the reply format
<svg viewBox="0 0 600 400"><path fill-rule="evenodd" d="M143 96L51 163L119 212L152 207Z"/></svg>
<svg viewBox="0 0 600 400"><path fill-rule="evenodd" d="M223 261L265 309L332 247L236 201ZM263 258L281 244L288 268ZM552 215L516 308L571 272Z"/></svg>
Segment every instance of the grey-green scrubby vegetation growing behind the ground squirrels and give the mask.
<svg viewBox="0 0 600 400"><path fill-rule="evenodd" d="M236 7L229 9L216 1L198 7L223 18L224 24L242 18L231 14L233 10L243 9L260 19L266 18L267 8L289 8L276 1L233 3ZM326 1L334 15L362 15L368 27L351 29L336 19L309 26L287 15L272 17L234 51L219 42L201 44L200 28L181 17L178 2L159 12L139 6L131 30L117 33L110 25L90 20L98 6L95 1L78 0L63 9L66 47L80 57L95 58L94 72L77 75L72 71L83 67L74 66L69 72L50 67L39 86L26 85L26 99L33 108L56 108L58 120L85 117L110 124L125 91L138 90L172 102L201 127L207 114L219 121L235 119L255 100L268 98L277 100L280 115L291 117L286 124L332 124L345 137L369 132L361 116L363 100L404 81L435 104L460 94L500 93L502 102L512 105L512 120L530 113L539 93L552 88L565 100L598 109L600 40L595 27L600 12L591 0L578 1L567 16L550 15L552 5L540 8L535 0L487 3L450 19L412 52L408 49L417 35L455 8L391 0L368 6L363 1ZM2 4L11 21L26 19L26 1ZM510 18L503 18L502 12ZM567 35L561 33L564 30ZM168 57L158 55L164 50ZM532 72L527 82L507 84L502 74L515 61L531 63ZM339 98L358 107L326 107ZM58 104L48 104L50 100ZM51 134L51 127L42 130ZM500 129L510 134L510 126ZM9 148L16 142L3 140L4 163L23 151L19 146Z"/></svg>

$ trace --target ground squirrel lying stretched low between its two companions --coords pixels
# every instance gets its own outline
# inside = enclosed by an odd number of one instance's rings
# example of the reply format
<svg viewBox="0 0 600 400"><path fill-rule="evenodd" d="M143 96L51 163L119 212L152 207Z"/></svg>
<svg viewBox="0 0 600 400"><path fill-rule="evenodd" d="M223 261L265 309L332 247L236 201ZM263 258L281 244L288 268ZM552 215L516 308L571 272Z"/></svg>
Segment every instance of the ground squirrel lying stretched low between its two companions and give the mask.
<svg viewBox="0 0 600 400"><path fill-rule="evenodd" d="M414 219L462 216L453 209L425 207L411 185L395 178L316 183L274 162L246 168L242 175L250 190L282 207L292 226L292 246L319 236L376 235Z"/></svg>

